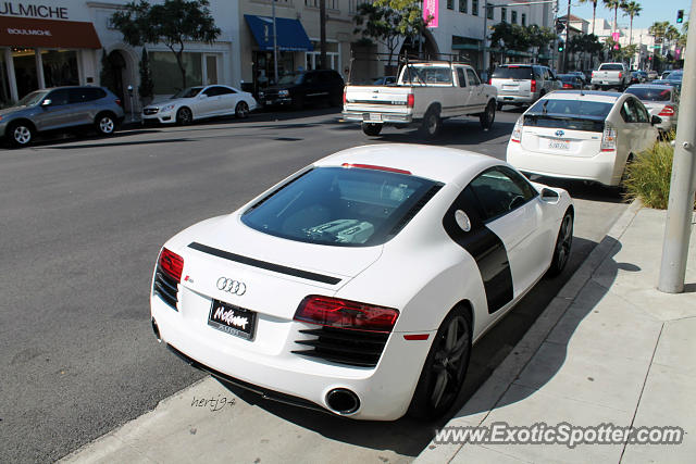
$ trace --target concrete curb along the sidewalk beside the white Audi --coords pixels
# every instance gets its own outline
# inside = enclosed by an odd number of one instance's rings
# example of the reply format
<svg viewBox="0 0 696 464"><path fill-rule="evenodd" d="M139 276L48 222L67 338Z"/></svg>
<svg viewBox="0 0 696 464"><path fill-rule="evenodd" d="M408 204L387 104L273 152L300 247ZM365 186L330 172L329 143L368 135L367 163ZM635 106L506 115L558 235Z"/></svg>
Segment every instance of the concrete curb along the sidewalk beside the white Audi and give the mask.
<svg viewBox="0 0 696 464"><path fill-rule="evenodd" d="M445 426L478 426L496 407L512 383L534 358L537 350L566 314L580 291L592 278L595 271L617 247L617 241L633 223L643 208L641 200L634 200L617 220L599 244L587 255L583 264L563 285L556 298L546 306L524 337L514 346L510 354L496 367L486 381L472 394L462 409ZM417 457L420 464L450 462L465 443L434 444L431 442Z"/></svg>

